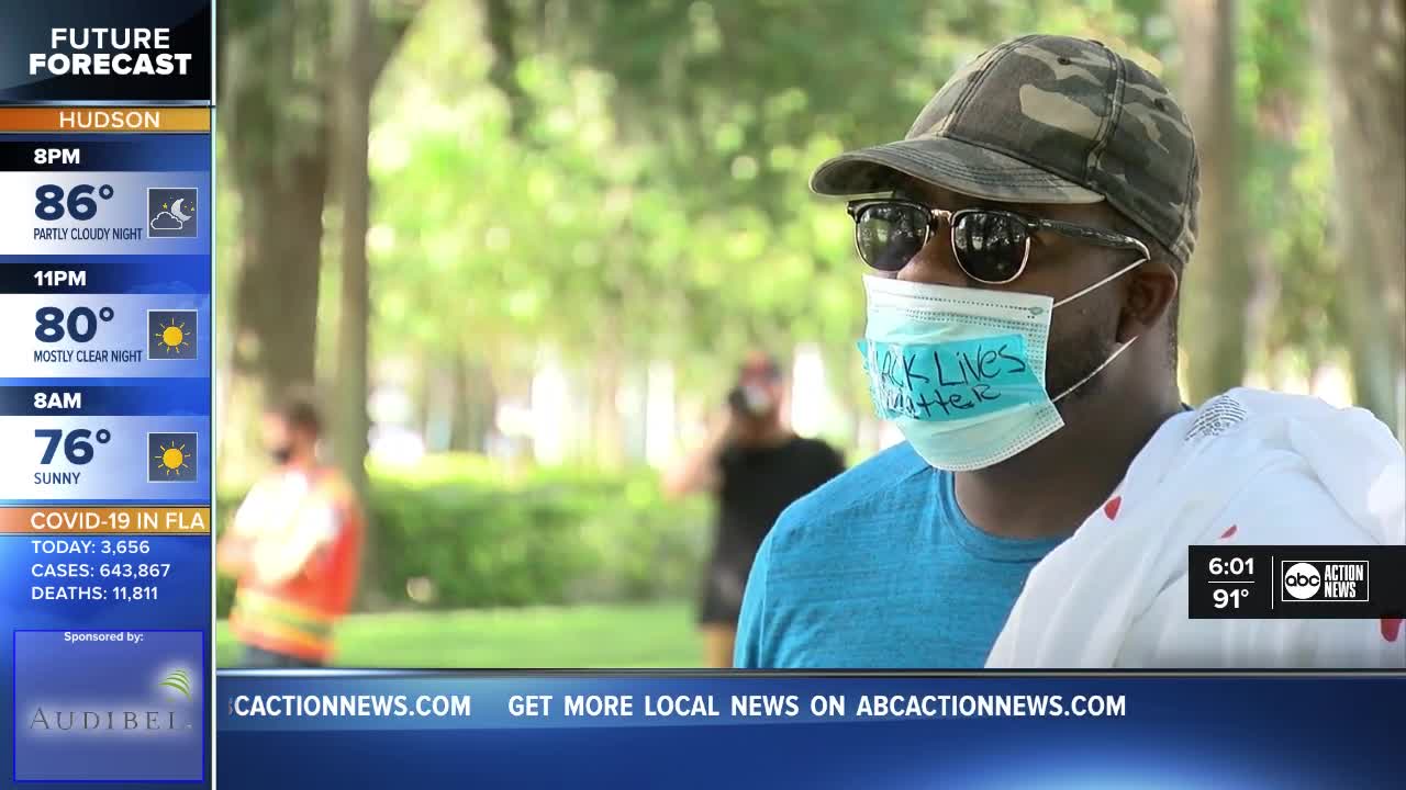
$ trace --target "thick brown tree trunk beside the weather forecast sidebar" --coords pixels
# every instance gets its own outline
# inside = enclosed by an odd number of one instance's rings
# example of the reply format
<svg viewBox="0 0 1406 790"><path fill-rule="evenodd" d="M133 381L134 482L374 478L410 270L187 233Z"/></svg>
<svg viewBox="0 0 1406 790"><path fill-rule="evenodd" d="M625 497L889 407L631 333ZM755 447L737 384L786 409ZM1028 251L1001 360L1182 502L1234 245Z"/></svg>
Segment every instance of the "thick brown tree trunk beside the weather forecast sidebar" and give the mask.
<svg viewBox="0 0 1406 790"><path fill-rule="evenodd" d="M321 86L302 72L307 62L319 70L323 46L315 7L226 6L217 14L219 127L229 153L221 169L239 194L240 232L221 457L235 461L224 474L247 477L262 405L315 378L326 118Z"/></svg>

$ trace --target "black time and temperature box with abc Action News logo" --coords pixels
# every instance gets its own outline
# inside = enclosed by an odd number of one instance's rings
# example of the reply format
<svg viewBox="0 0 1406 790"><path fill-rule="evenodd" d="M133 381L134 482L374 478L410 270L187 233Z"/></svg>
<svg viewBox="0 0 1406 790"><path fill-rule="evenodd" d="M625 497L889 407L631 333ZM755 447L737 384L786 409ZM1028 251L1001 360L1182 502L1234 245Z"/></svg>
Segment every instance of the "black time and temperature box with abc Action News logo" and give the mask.
<svg viewBox="0 0 1406 790"><path fill-rule="evenodd" d="M1406 616L1406 545L1192 545L1192 619Z"/></svg>

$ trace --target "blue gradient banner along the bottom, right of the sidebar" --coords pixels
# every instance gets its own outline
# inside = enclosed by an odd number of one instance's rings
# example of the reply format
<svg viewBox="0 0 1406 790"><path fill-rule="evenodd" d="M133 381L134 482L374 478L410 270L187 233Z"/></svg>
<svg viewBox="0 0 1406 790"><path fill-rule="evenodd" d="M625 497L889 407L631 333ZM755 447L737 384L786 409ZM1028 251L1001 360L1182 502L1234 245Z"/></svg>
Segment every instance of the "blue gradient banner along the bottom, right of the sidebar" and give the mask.
<svg viewBox="0 0 1406 790"><path fill-rule="evenodd" d="M267 704L360 694L370 694L367 715L359 715L354 704L344 715L252 714L256 699ZM406 711L415 711L425 696L468 696L470 714L394 713L394 700L404 699ZM568 696L628 697L633 713L568 715ZM960 715L963 699L1052 696L1060 697L1063 715L1049 714L1047 706L1046 715L1029 708L1026 715ZM1105 706L1104 715L1076 715L1076 696L1121 699L1123 713L1111 715ZM526 713L529 697L537 700L536 715ZM717 715L648 715L647 699L669 697L683 697L688 710L696 710L695 700L711 700L704 710ZM957 714L860 715L863 697L870 708L882 697L890 703L948 697ZM734 699L741 700L737 711ZM787 699L796 714L776 714ZM813 703L824 710L838 703L845 713L817 715ZM284 706L280 713L295 710L291 703L273 704ZM377 704L387 713L378 715ZM215 706L219 783L270 790L352 784L1375 789L1402 786L1406 676L222 672ZM941 713L942 703L934 706ZM907 711L905 704L898 708Z"/></svg>

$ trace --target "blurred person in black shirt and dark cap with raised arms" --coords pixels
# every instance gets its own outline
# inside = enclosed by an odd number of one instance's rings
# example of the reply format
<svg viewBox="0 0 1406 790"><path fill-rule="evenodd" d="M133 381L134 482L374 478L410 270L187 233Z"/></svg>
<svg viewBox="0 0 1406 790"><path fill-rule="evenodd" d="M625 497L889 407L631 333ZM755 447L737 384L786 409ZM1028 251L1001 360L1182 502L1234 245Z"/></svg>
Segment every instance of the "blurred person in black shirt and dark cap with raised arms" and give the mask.
<svg viewBox="0 0 1406 790"><path fill-rule="evenodd" d="M838 451L796 436L782 422L782 385L780 365L765 354L751 354L709 439L664 479L671 496L706 491L717 498L717 533L699 613L710 668L733 665L742 588L756 547L776 517L845 471Z"/></svg>

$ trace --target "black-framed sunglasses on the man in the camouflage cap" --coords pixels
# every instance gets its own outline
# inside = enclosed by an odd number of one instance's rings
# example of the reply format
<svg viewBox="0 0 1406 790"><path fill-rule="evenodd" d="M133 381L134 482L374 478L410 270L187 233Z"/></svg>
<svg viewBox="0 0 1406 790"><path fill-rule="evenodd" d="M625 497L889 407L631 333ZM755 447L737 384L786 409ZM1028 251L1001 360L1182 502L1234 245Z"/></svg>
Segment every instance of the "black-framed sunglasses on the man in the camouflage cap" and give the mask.
<svg viewBox="0 0 1406 790"><path fill-rule="evenodd" d="M952 233L952 257L972 280L1004 285L1025 271L1031 257L1031 238L1040 231L1073 236L1104 247L1130 249L1150 257L1147 246L1122 233L1025 216L994 208L946 211L911 200L875 198L849 202L855 218L855 247L859 257L880 271L898 271L932 236L939 219Z"/></svg>

